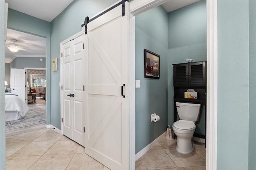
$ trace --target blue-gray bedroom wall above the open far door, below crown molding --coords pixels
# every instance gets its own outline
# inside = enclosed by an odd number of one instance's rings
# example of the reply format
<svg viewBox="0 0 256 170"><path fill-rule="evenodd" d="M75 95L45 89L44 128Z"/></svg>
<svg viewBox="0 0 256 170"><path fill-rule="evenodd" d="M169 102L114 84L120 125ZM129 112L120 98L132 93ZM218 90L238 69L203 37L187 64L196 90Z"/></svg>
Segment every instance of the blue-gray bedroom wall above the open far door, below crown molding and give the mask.
<svg viewBox="0 0 256 170"><path fill-rule="evenodd" d="M16 57L10 63L10 69L24 69L24 68L45 68L45 59L40 61L38 57Z"/></svg>

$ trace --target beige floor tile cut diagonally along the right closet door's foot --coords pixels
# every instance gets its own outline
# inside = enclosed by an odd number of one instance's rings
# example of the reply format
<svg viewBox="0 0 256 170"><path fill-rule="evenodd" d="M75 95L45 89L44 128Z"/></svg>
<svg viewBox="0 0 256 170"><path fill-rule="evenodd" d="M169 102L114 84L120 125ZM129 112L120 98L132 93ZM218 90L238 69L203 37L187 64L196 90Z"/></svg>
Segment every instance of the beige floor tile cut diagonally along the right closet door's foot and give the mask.
<svg viewBox="0 0 256 170"><path fill-rule="evenodd" d="M75 154L79 146L72 140L57 141L45 154Z"/></svg>

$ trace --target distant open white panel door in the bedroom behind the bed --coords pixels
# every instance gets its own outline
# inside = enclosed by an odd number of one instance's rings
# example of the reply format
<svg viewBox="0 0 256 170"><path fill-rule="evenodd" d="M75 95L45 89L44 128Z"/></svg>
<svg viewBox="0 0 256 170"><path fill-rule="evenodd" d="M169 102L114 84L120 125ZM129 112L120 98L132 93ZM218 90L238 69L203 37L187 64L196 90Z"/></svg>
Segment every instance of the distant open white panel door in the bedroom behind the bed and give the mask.
<svg viewBox="0 0 256 170"><path fill-rule="evenodd" d="M18 95L26 103L25 69L12 69L12 93Z"/></svg>

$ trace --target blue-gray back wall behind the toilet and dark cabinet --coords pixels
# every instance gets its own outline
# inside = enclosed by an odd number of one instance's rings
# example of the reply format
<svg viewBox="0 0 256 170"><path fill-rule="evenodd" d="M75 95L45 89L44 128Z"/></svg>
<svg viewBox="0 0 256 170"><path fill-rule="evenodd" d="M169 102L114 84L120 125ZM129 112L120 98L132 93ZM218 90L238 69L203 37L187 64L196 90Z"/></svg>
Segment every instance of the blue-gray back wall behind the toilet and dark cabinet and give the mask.
<svg viewBox="0 0 256 170"><path fill-rule="evenodd" d="M168 124L173 118L173 65L185 59L206 61L206 1L202 0L168 13ZM197 134L205 132L205 106L196 122Z"/></svg>

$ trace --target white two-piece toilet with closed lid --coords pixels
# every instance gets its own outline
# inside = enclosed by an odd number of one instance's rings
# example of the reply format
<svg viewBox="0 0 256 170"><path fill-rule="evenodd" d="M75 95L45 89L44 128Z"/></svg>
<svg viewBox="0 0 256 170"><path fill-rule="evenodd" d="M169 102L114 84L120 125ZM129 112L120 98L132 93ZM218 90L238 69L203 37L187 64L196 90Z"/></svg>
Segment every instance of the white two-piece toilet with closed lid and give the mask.
<svg viewBox="0 0 256 170"><path fill-rule="evenodd" d="M194 149L194 142L191 140L196 129L195 122L199 119L200 103L176 102L180 120L174 122L172 129L177 135L176 150L182 154L189 154Z"/></svg>

